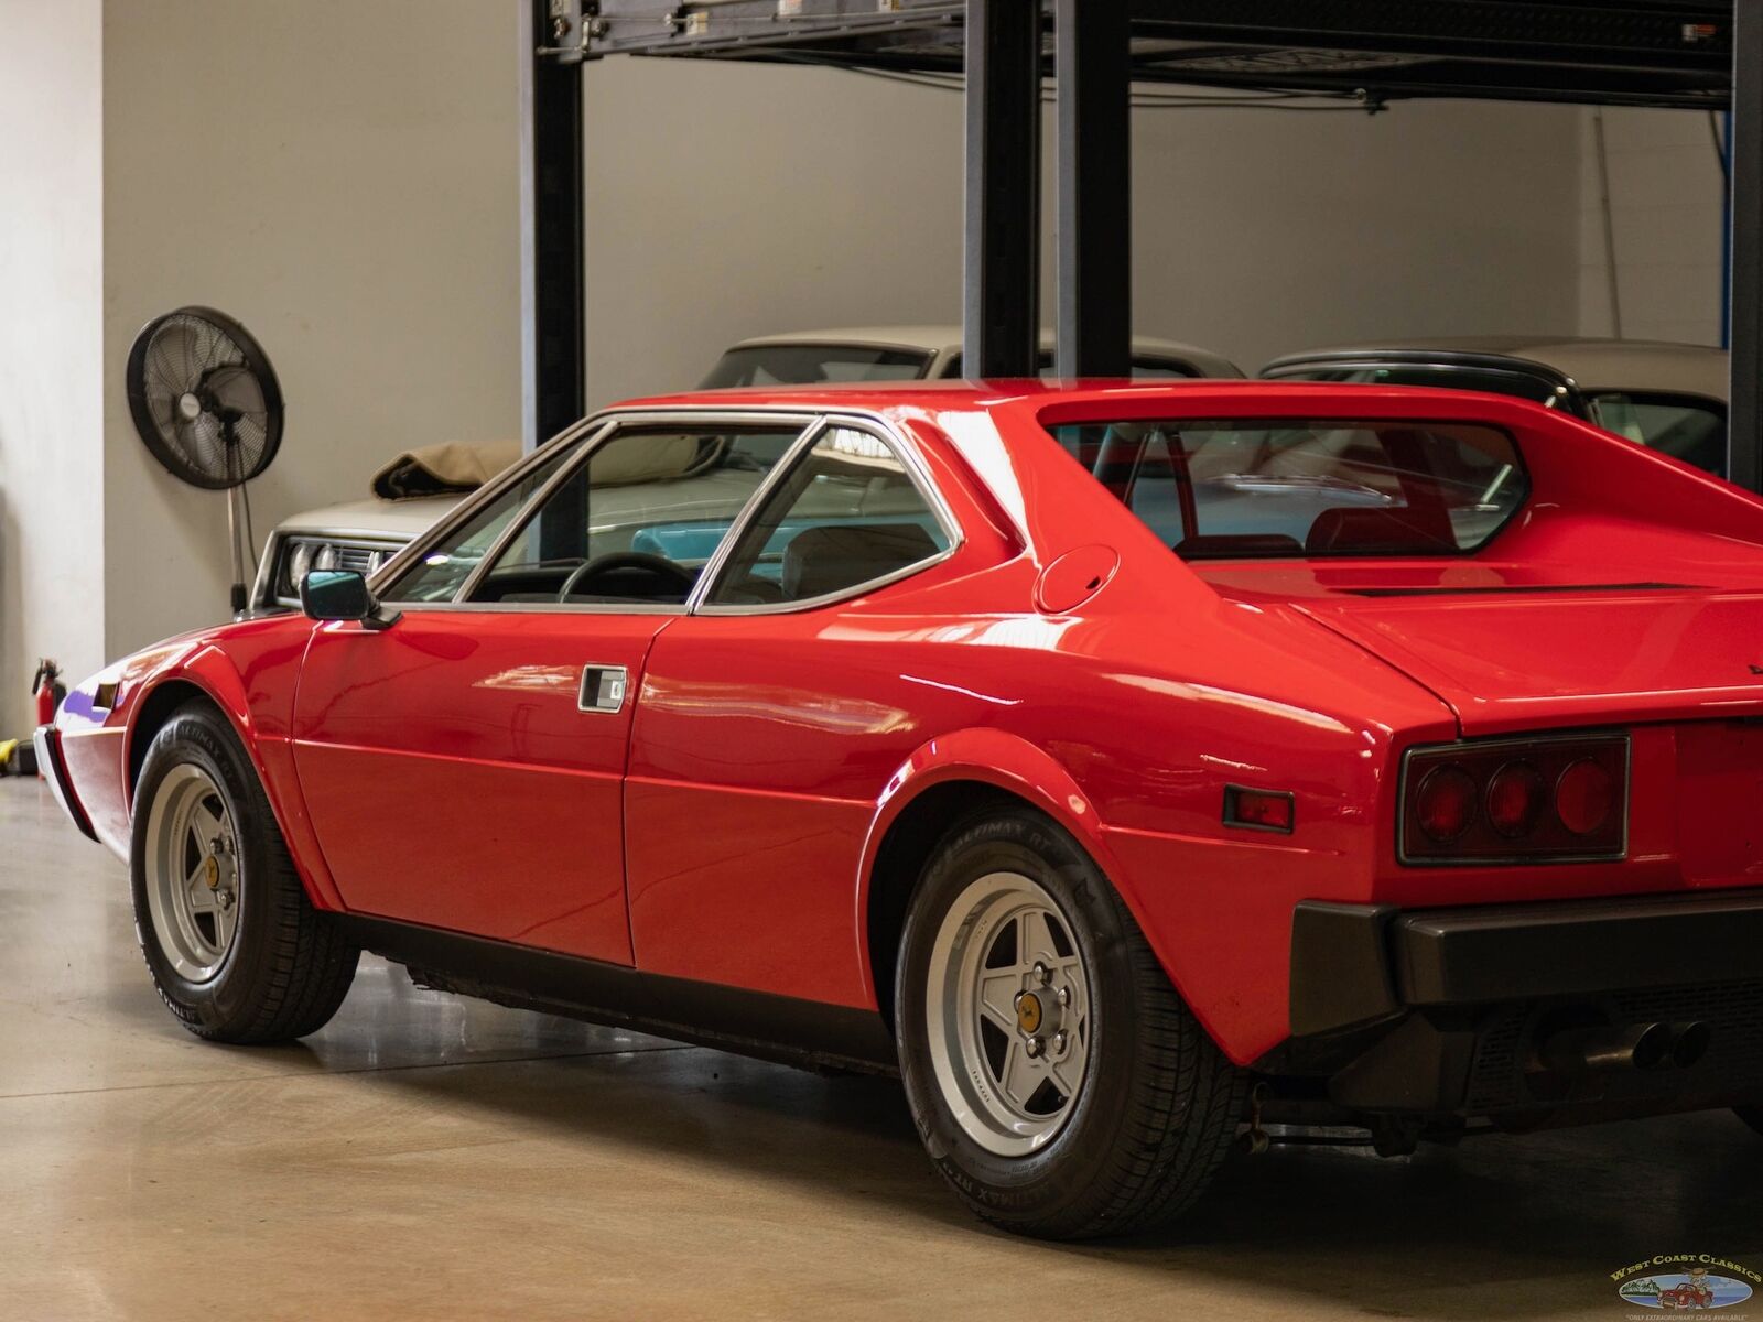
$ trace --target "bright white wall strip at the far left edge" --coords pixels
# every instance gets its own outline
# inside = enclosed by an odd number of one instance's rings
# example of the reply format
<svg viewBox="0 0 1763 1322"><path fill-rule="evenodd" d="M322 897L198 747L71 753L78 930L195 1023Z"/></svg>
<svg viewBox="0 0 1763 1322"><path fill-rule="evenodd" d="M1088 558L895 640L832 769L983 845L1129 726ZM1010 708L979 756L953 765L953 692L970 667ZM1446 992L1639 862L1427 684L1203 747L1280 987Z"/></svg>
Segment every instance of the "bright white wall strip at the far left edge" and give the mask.
<svg viewBox="0 0 1763 1322"><path fill-rule="evenodd" d="M104 657L99 0L0 0L0 739Z"/></svg>

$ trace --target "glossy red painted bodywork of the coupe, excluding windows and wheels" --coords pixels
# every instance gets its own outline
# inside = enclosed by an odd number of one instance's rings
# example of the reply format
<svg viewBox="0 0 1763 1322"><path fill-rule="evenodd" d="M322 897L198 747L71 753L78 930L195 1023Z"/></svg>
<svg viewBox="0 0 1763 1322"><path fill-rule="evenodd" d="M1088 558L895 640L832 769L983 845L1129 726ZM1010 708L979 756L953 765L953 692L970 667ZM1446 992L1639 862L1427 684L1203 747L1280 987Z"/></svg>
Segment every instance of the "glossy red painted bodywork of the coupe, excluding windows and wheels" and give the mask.
<svg viewBox="0 0 1763 1322"><path fill-rule="evenodd" d="M631 407L760 405L885 418L947 497L959 550L800 612L411 610L383 633L280 617L166 643L62 717L100 837L127 848L143 702L192 684L250 747L324 908L873 1008L887 832L919 795L975 781L1082 843L1239 1063L1291 1033L1299 901L1758 881L1763 853L1722 827L1763 790L1763 735L1733 721L1763 716L1756 497L1454 391L1000 382ZM1045 435L1306 416L1502 427L1530 499L1472 555L1183 564ZM584 665L628 666L635 703L577 710ZM109 709L100 684L118 684ZM1398 864L1407 747L1610 724L1633 732L1622 862ZM1294 793L1296 830L1224 825L1225 784Z"/></svg>

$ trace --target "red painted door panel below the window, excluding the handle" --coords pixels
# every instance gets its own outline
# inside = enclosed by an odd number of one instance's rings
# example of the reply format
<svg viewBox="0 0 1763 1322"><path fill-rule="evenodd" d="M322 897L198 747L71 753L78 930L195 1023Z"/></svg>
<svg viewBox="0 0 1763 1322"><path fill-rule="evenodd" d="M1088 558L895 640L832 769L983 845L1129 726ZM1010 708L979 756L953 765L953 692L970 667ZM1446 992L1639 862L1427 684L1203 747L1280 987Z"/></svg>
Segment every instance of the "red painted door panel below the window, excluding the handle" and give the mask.
<svg viewBox="0 0 1763 1322"><path fill-rule="evenodd" d="M589 645L571 615L471 613L469 633L460 619L413 610L384 636L349 624L312 633L294 765L342 901L629 964L631 709L585 714L577 696L587 663L640 675L668 620L599 617ZM395 841L391 821L407 825Z"/></svg>

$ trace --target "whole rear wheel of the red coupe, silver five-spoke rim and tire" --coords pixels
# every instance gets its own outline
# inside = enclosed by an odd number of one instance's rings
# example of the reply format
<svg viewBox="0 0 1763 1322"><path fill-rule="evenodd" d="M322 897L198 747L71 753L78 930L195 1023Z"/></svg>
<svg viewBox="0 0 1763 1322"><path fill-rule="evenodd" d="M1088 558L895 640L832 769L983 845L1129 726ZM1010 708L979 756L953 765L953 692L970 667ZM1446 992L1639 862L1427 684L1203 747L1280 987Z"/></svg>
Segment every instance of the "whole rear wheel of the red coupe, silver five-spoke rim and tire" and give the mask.
<svg viewBox="0 0 1763 1322"><path fill-rule="evenodd" d="M1162 1223L1236 1137L1246 1077L1181 1003L1109 880L1028 809L938 846L894 1022L931 1160L984 1218L1053 1239Z"/></svg>

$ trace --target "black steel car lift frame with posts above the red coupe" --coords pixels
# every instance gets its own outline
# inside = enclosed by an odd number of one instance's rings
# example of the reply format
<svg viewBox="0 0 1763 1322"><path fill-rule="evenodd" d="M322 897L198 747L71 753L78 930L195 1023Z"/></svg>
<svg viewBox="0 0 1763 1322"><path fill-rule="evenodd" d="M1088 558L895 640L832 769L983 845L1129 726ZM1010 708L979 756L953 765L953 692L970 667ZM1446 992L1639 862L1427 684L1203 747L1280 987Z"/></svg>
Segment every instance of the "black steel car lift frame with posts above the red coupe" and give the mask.
<svg viewBox="0 0 1763 1322"><path fill-rule="evenodd" d="M548 400L529 407L529 439L582 409L580 296L571 312L557 291L584 270L580 69L633 55L963 76L964 353L986 375L1035 363L1049 79L1067 375L1127 368L1135 85L1366 111L1417 97L1731 109L1731 474L1763 486L1763 0L531 0L529 21L527 395Z"/></svg>

